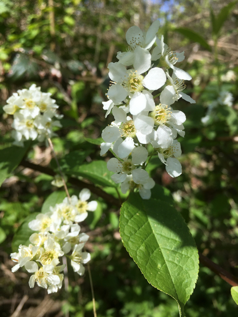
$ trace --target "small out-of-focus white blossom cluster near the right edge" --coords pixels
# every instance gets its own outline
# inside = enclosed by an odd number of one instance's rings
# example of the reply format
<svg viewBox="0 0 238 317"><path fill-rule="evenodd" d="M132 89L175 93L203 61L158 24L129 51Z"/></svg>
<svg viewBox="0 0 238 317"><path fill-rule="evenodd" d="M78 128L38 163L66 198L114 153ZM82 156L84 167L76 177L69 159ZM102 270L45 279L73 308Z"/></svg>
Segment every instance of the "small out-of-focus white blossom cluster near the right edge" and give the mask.
<svg viewBox="0 0 238 317"><path fill-rule="evenodd" d="M207 126L215 120L219 120L217 117L216 108L221 106L232 107L234 101L234 97L232 93L228 91L221 91L218 95L218 98L208 104L207 113L204 117L202 117L201 122Z"/></svg>

